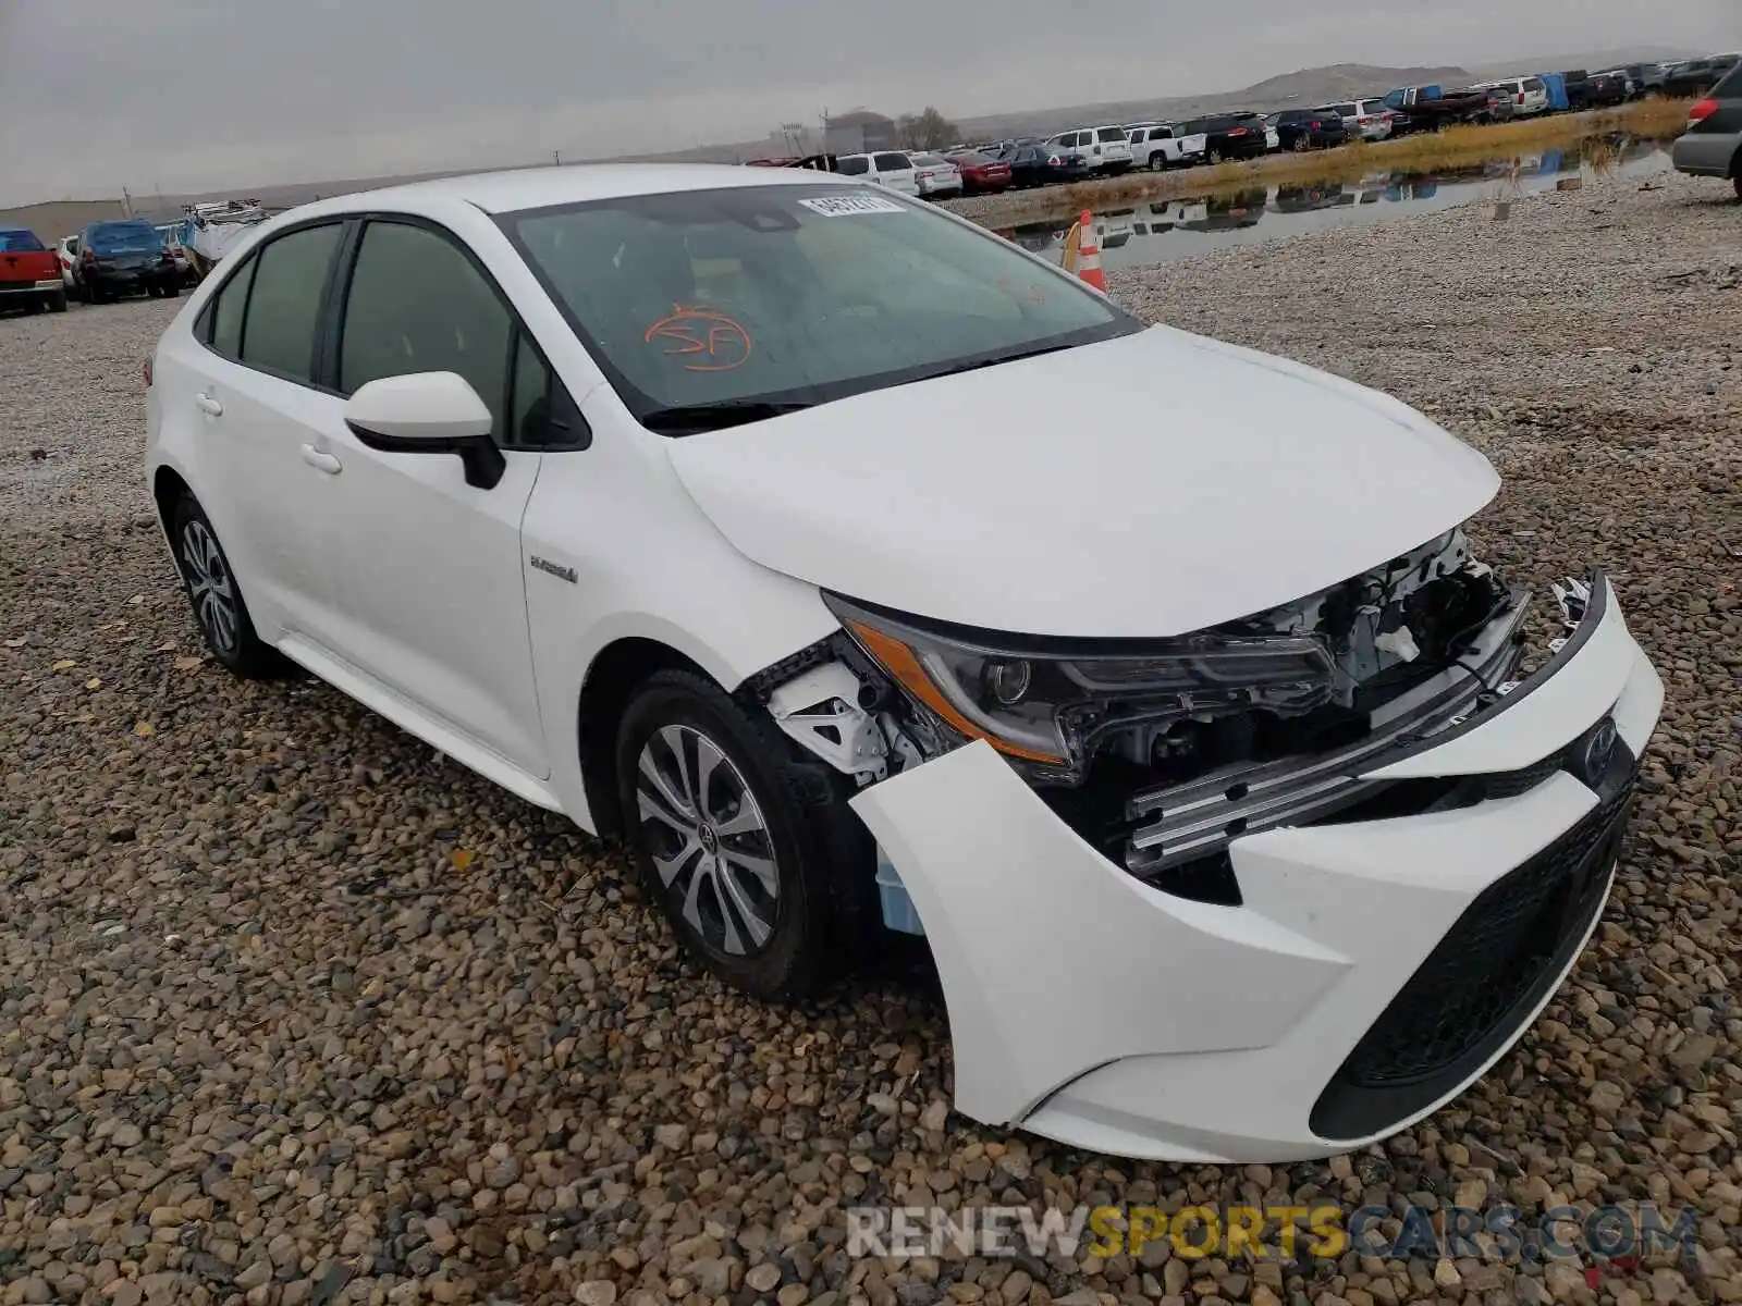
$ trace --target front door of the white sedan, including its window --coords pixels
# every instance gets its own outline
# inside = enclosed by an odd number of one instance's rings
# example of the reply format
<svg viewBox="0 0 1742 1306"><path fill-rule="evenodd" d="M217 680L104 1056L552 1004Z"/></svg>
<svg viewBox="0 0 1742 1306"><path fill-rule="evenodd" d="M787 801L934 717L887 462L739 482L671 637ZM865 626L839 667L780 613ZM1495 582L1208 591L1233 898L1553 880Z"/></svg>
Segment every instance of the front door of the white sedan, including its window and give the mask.
<svg viewBox="0 0 1742 1306"><path fill-rule="evenodd" d="M547 777L526 627L521 517L540 453L521 432L545 411L549 369L458 237L402 216L368 219L336 279L326 366L338 395L451 371L495 416L505 472L467 482L460 458L362 444L334 407L327 460L340 632L331 651L422 716Z"/></svg>

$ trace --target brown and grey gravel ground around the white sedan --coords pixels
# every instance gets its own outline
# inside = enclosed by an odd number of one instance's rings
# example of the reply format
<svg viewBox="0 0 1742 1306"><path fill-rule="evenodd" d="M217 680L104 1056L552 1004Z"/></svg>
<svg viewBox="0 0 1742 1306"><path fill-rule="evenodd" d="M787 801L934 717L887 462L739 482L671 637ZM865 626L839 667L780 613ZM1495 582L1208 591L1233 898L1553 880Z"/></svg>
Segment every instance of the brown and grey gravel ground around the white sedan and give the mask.
<svg viewBox="0 0 1742 1306"><path fill-rule="evenodd" d="M1669 686L1573 980L1449 1109L1322 1165L1111 1161L946 1113L904 973L699 979L625 867L308 681L200 656L139 484L174 305L0 320L0 1304L1742 1299L1742 209L1603 185L1115 277L1390 388L1613 569ZM1310 432L1301 434L1310 439ZM840 1207L1691 1205L1697 1262L848 1261ZM1596 1283L1596 1289L1592 1289Z"/></svg>

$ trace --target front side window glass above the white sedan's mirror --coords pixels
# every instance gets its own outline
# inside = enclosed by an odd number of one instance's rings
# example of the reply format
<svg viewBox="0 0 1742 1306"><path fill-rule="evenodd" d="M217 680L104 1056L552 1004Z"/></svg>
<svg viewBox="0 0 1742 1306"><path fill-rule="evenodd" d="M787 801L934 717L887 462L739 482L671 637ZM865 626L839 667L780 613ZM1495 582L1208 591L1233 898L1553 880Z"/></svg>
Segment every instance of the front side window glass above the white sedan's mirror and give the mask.
<svg viewBox="0 0 1742 1306"><path fill-rule="evenodd" d="M340 333L341 394L383 376L458 373L502 439L512 334L495 287L451 240L408 223L362 228Z"/></svg>

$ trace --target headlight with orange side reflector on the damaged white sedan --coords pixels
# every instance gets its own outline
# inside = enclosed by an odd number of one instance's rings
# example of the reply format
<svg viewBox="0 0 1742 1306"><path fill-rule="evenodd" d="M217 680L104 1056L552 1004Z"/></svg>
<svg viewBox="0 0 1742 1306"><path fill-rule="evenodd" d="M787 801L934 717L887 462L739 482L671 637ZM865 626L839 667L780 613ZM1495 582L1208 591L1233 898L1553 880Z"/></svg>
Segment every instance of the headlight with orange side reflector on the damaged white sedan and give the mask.
<svg viewBox="0 0 1742 1306"><path fill-rule="evenodd" d="M918 622L833 594L826 601L939 723L1056 778L1082 777L1104 728L1242 707L1305 712L1329 702L1334 686L1331 651L1313 636L1066 641Z"/></svg>

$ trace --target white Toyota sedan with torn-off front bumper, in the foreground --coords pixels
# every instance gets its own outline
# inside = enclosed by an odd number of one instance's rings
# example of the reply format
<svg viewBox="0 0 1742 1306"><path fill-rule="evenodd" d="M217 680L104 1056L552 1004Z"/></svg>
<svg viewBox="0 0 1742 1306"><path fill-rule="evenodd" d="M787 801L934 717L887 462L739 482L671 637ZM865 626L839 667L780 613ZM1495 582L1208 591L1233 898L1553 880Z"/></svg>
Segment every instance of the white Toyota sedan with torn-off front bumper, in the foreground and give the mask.
<svg viewBox="0 0 1742 1306"><path fill-rule="evenodd" d="M314 204L164 333L213 655L620 838L766 998L925 935L956 1106L1324 1156L1434 1111L1601 914L1662 683L1470 555L1481 454L808 171Z"/></svg>

